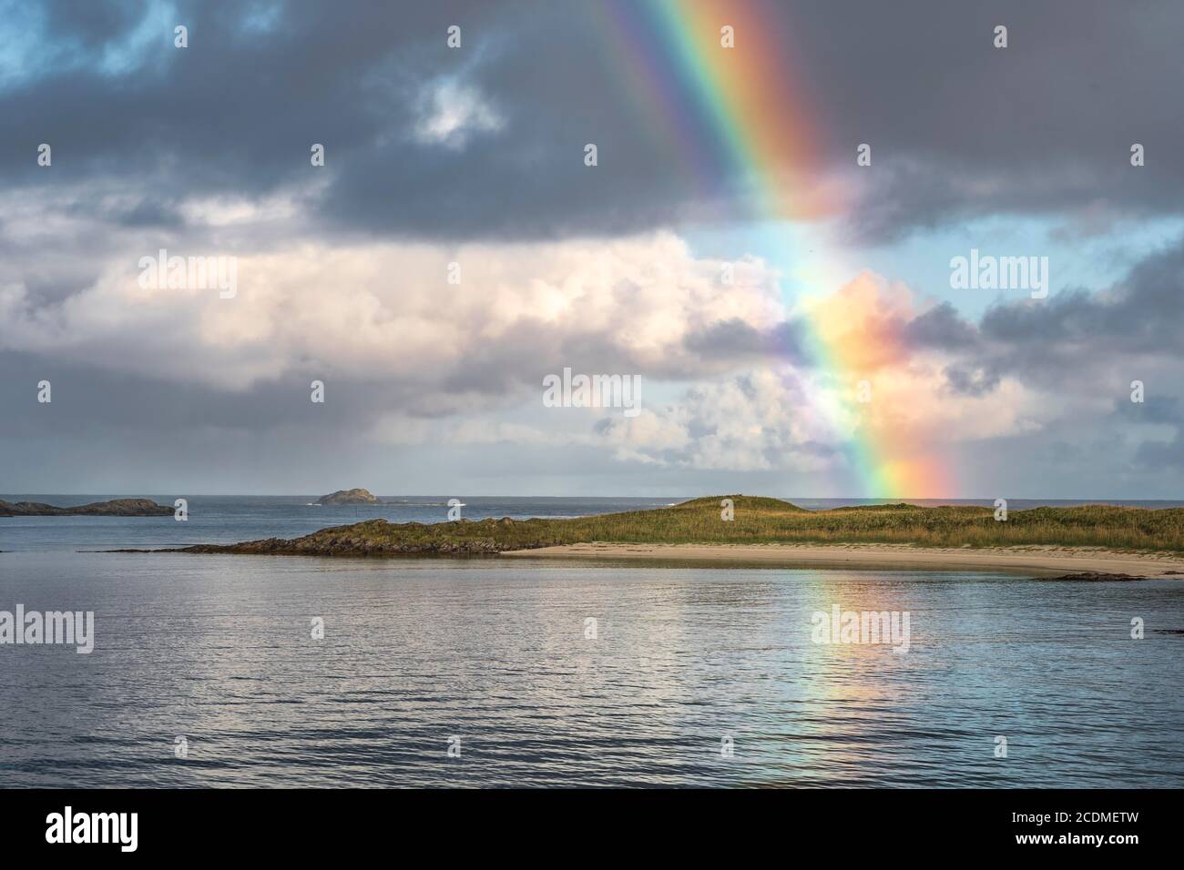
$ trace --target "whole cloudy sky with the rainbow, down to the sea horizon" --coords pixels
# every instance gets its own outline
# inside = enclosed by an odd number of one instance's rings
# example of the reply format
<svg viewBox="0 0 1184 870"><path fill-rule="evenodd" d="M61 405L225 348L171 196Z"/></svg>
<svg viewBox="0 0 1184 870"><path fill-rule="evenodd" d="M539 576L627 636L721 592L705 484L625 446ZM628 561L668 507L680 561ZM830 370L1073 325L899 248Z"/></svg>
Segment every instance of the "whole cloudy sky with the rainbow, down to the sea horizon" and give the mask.
<svg viewBox="0 0 1184 870"><path fill-rule="evenodd" d="M1180 498L1180 32L0 0L0 492Z"/></svg>

